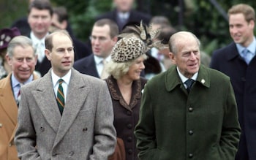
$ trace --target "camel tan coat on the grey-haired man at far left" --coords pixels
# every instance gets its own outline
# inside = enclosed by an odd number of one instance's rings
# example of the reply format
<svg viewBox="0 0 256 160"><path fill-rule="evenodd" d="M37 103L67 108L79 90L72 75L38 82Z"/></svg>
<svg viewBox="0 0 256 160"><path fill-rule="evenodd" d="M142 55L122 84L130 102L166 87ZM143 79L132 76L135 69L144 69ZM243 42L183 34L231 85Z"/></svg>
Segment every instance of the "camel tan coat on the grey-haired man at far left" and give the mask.
<svg viewBox="0 0 256 160"><path fill-rule="evenodd" d="M0 159L3 160L18 159L14 144L18 106L12 92L11 75L0 81ZM37 75L33 77L37 79Z"/></svg>

